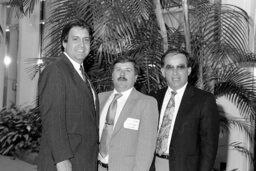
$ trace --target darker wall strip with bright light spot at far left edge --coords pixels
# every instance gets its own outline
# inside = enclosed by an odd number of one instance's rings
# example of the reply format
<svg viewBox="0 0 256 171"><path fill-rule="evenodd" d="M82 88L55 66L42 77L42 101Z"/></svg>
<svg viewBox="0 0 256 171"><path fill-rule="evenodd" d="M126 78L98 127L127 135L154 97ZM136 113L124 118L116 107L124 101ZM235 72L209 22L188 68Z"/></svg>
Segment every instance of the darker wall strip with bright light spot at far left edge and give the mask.
<svg viewBox="0 0 256 171"><path fill-rule="evenodd" d="M16 102L17 52L18 52L18 18L10 13L10 8L1 6L1 26L4 34L1 37L1 106L10 106ZM7 65L5 59L10 59Z"/></svg>

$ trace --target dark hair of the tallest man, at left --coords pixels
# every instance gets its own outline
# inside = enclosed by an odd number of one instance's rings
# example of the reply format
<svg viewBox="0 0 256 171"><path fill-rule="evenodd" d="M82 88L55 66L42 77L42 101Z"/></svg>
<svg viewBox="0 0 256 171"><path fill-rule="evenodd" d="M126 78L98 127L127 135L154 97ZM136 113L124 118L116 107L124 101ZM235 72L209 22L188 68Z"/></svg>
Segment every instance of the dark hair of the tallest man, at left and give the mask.
<svg viewBox="0 0 256 171"><path fill-rule="evenodd" d="M62 29L62 33L61 33L61 51L62 52L64 51L64 47L62 43L68 41L69 31L73 27L85 28L89 32L89 35L91 37L91 27L84 20L81 20L81 19L72 20L71 22L67 23Z"/></svg>

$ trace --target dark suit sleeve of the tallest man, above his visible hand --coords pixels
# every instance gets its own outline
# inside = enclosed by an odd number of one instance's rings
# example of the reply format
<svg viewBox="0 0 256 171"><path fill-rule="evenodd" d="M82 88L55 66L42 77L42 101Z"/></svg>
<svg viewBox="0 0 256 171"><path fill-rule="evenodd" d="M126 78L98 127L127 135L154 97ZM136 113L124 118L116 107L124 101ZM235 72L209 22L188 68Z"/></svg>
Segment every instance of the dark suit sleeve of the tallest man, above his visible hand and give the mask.
<svg viewBox="0 0 256 171"><path fill-rule="evenodd" d="M66 87L57 67L45 69L39 81L43 132L56 163L73 157L66 129Z"/></svg>

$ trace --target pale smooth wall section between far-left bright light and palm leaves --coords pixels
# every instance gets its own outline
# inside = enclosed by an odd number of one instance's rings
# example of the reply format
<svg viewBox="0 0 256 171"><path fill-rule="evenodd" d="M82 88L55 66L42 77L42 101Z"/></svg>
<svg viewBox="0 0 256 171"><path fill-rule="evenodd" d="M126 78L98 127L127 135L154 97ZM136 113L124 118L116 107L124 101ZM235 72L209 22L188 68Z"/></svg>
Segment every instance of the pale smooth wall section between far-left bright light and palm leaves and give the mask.
<svg viewBox="0 0 256 171"><path fill-rule="evenodd" d="M39 57L39 3L30 17L20 20L19 30L17 105L35 105L38 76L33 80L29 76L28 60Z"/></svg>

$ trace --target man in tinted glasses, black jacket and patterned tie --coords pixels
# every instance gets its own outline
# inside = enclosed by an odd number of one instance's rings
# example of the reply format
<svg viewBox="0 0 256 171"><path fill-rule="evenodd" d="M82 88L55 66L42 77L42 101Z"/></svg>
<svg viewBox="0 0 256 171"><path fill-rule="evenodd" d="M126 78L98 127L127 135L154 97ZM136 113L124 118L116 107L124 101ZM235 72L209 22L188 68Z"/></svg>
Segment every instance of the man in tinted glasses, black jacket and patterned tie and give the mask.
<svg viewBox="0 0 256 171"><path fill-rule="evenodd" d="M161 63L168 87L153 94L160 118L151 170L212 171L219 134L216 100L188 84L191 63L186 52L169 50Z"/></svg>

